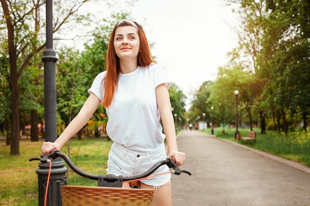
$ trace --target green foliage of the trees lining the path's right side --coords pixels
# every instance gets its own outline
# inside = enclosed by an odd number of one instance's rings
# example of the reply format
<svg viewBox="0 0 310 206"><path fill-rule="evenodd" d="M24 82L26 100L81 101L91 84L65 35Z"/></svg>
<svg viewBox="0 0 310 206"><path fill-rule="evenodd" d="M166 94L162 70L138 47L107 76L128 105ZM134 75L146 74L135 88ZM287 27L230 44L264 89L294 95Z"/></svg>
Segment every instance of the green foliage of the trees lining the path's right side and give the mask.
<svg viewBox="0 0 310 206"><path fill-rule="evenodd" d="M214 107L216 121L240 124L246 119L251 129L259 121L264 133L265 122L270 120L277 132L287 134L289 127L294 131L299 125L306 131L310 114L309 1L225 1L235 5L233 11L241 24L234 28L239 42L228 53L230 62L218 68L216 80L208 87L209 96L205 96ZM233 118L235 89L240 92L239 123ZM198 97L190 109L193 114L203 102Z"/></svg>

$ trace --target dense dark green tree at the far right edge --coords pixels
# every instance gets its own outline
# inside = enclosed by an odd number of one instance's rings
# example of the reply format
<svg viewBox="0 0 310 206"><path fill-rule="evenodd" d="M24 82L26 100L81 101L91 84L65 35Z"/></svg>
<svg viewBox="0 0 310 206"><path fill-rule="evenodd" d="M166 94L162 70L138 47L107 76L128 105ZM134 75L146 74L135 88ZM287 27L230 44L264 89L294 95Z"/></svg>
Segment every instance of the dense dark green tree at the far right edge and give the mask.
<svg viewBox="0 0 310 206"><path fill-rule="evenodd" d="M259 63L264 68L260 75L268 81L262 98L269 107L279 110L286 134L287 117L294 121L295 113L300 114L306 131L310 106L307 83L310 81L310 3L307 0L265 2L269 15L264 23ZM280 131L280 125L277 126Z"/></svg>

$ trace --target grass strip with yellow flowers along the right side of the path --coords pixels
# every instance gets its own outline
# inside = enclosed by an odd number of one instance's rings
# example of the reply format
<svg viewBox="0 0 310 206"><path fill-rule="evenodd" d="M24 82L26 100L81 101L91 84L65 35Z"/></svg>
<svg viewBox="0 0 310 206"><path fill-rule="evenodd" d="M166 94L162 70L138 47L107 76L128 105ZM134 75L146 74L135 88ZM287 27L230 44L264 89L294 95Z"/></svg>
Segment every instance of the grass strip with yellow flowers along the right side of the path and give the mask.
<svg viewBox="0 0 310 206"><path fill-rule="evenodd" d="M238 142L234 138L235 129L225 129L225 133L221 133L221 128L215 128L214 134L219 138ZM249 129L238 129L243 137L248 136ZM274 131L267 131L266 134L260 134L260 130L255 128L257 132L257 141L245 143L249 147L260 151L268 152L279 157L292 160L307 166L310 166L310 133L303 131L289 132L288 135L276 134ZM210 129L205 130L210 134Z"/></svg>

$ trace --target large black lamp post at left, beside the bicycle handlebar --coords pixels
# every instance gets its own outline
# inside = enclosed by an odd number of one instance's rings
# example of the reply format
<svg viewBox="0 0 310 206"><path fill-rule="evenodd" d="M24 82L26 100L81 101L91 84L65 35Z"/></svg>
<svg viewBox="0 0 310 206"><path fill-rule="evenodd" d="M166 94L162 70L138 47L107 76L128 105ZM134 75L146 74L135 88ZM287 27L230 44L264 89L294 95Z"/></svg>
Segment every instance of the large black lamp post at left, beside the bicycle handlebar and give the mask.
<svg viewBox="0 0 310 206"><path fill-rule="evenodd" d="M57 138L56 116L56 52L53 50L52 0L46 0L46 49L43 52L44 62L44 104L45 104L45 140L54 142ZM44 206L45 190L49 181L47 206L61 206L61 185L66 184L67 167L61 159L52 161L51 176L48 179L49 164L39 163L38 174L39 206Z"/></svg>

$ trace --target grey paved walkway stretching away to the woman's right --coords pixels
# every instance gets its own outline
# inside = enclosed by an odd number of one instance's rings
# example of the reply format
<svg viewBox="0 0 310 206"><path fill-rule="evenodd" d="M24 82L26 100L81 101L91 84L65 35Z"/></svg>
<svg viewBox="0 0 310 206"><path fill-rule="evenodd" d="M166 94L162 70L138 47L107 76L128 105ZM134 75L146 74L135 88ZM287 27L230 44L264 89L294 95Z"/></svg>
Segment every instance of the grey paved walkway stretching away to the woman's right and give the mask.
<svg viewBox="0 0 310 206"><path fill-rule="evenodd" d="M193 174L172 175L173 206L310 206L307 166L194 130L178 147Z"/></svg>

